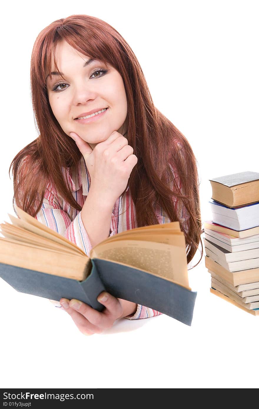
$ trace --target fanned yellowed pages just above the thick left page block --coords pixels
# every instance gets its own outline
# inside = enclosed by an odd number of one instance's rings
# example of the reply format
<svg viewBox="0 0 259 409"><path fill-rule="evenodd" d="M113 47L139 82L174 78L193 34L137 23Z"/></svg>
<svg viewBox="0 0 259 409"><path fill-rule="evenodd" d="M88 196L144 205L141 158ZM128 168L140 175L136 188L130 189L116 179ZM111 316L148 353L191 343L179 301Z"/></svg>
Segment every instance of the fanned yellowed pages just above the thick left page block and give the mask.
<svg viewBox="0 0 259 409"><path fill-rule="evenodd" d="M80 254L79 252L75 251L74 249L70 249L69 247L64 247L64 245L55 243L53 240L49 240L45 237L38 236L38 234L34 234L31 231L26 231L26 236L24 235L24 229L20 229L18 226L11 225L7 222L6 224L0 224L0 231L2 235L6 238L12 240L18 240L23 243L30 243L36 247L45 247L47 249L52 250L59 250L63 253L70 253L70 254ZM82 254L83 256L83 254Z"/></svg>

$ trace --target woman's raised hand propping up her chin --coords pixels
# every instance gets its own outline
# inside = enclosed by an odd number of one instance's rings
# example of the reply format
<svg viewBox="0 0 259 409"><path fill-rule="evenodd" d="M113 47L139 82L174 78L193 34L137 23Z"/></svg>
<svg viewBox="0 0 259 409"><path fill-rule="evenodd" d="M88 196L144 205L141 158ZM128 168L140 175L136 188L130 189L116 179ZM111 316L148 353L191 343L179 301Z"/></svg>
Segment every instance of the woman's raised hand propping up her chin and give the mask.
<svg viewBox="0 0 259 409"><path fill-rule="evenodd" d="M91 177L91 190L106 194L114 204L126 189L131 171L137 164L137 157L133 155L133 148L128 145L128 140L114 131L92 149L76 133L70 133L70 137L76 142L86 162Z"/></svg>

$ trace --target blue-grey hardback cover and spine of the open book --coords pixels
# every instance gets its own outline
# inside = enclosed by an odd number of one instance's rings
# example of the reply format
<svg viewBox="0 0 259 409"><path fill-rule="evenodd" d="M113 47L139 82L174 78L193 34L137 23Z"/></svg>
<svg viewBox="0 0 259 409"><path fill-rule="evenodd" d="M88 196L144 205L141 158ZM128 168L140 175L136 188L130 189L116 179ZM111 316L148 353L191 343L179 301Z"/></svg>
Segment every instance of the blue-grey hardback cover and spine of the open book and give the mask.
<svg viewBox="0 0 259 409"><path fill-rule="evenodd" d="M105 290L191 326L196 292L128 265L99 258L91 262L91 273L84 281L4 263L0 263L0 277L19 292L56 301L75 298L98 311L104 306L97 297Z"/></svg>

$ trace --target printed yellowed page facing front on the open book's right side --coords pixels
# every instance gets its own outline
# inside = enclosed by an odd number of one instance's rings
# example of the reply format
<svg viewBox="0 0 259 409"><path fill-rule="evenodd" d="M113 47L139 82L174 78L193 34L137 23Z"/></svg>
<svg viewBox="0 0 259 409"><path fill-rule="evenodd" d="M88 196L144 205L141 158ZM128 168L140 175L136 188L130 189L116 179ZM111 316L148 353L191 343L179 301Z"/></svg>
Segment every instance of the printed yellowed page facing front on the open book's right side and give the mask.
<svg viewBox="0 0 259 409"><path fill-rule="evenodd" d="M118 261L154 273L189 289L185 237L178 246L149 241L122 240L92 249L90 258Z"/></svg>

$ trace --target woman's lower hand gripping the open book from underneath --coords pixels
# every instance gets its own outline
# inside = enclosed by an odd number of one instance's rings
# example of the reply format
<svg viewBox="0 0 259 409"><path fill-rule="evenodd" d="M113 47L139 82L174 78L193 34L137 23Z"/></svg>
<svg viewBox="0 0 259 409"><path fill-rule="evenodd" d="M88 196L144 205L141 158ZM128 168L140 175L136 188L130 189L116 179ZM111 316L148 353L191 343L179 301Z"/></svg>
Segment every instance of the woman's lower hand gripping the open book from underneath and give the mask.
<svg viewBox="0 0 259 409"><path fill-rule="evenodd" d="M79 331L84 335L92 335L111 328L114 321L123 315L122 303L111 294L102 292L97 301L106 307L102 312L76 299L61 298L59 302L72 317Z"/></svg>

